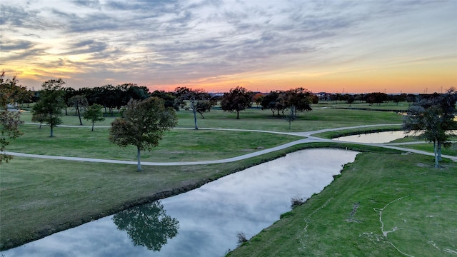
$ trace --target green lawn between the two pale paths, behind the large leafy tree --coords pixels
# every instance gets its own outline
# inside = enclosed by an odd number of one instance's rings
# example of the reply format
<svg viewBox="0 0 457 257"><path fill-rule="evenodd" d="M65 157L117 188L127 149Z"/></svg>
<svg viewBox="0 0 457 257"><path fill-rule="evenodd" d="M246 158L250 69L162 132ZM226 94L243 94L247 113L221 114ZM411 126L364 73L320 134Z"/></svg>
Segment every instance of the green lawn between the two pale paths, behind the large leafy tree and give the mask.
<svg viewBox="0 0 457 257"><path fill-rule="evenodd" d="M111 158L136 160L136 147L120 148L109 142L109 129L56 128L55 137L49 137L49 128L23 125L24 135L17 138L8 151L46 154L52 156L77 156L86 158ZM207 161L231 158L301 139L273 133L248 131L213 131L172 129L153 151L142 151L142 161Z"/></svg>

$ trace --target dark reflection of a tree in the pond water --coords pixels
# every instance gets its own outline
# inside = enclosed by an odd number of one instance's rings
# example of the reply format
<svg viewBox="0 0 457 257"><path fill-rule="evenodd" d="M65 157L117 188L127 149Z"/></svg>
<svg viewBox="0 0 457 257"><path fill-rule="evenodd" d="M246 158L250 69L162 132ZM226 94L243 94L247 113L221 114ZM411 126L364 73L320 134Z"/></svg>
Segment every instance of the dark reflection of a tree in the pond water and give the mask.
<svg viewBox="0 0 457 257"><path fill-rule="evenodd" d="M127 232L135 246L152 251L160 251L179 229L179 221L166 214L160 201L116 213L113 221L119 230Z"/></svg>

